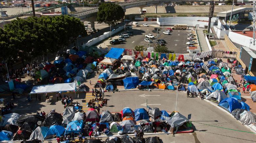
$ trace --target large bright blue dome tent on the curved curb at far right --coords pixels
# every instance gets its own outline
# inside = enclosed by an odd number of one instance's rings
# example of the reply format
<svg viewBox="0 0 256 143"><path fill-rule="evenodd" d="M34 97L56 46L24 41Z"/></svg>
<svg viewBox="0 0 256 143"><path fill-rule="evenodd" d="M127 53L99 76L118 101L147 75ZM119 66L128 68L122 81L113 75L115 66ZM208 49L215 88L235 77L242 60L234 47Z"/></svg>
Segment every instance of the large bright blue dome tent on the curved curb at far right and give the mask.
<svg viewBox="0 0 256 143"><path fill-rule="evenodd" d="M239 104L238 100L234 97L228 97L224 100L222 100L219 103L219 106L224 107L225 109L227 109L230 113L234 110L234 109L241 109L241 105Z"/></svg>

